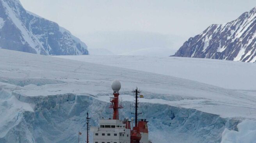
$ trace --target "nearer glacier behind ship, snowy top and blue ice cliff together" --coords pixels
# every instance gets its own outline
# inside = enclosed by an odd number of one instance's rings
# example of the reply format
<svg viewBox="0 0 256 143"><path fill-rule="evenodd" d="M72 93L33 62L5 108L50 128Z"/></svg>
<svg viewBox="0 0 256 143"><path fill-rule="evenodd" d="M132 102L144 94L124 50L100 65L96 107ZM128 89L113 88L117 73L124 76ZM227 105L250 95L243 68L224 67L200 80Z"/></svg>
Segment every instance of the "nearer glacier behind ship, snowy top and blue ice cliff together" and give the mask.
<svg viewBox="0 0 256 143"><path fill-rule="evenodd" d="M131 117L132 88L142 89L142 118L153 141L220 143L225 128L256 119L256 96L116 66L0 49L0 79L1 143L77 142L87 111L92 126L111 116L114 79L122 84L122 118Z"/></svg>

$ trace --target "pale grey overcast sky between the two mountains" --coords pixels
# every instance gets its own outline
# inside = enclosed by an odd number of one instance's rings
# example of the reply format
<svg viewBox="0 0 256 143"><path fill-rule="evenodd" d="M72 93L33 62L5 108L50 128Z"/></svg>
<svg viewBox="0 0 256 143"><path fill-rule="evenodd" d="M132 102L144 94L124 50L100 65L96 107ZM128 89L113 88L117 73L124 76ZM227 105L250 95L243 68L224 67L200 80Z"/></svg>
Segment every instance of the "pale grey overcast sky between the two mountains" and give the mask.
<svg viewBox="0 0 256 143"><path fill-rule="evenodd" d="M129 47L178 49L210 24L227 23L256 7L256 0L20 1L25 9L71 31L89 48L118 53ZM122 43L126 45L120 50Z"/></svg>

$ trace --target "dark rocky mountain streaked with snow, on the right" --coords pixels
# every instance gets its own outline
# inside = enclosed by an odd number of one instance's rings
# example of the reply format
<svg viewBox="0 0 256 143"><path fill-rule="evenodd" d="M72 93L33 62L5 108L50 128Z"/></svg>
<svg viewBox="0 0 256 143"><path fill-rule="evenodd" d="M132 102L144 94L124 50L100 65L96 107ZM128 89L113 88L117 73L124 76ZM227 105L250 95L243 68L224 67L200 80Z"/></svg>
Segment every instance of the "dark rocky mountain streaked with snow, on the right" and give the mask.
<svg viewBox="0 0 256 143"><path fill-rule="evenodd" d="M226 24L212 24L173 56L256 62L256 7Z"/></svg>

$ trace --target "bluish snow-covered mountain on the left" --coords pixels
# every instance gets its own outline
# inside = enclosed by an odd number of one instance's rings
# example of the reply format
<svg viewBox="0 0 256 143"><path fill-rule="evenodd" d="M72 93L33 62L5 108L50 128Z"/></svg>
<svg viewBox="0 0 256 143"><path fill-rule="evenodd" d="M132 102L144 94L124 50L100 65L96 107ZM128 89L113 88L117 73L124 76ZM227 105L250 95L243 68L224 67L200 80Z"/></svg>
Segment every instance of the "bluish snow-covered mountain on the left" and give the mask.
<svg viewBox="0 0 256 143"><path fill-rule="evenodd" d="M0 0L0 48L43 55L88 54L87 45L57 23Z"/></svg>

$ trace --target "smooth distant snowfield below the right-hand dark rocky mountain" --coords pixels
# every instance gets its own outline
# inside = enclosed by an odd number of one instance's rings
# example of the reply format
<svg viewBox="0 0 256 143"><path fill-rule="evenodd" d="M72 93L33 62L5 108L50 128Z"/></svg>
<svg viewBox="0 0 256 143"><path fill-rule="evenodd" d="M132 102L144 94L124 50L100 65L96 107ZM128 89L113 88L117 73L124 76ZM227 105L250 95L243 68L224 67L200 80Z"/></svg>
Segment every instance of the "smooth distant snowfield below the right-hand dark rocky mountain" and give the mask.
<svg viewBox="0 0 256 143"><path fill-rule="evenodd" d="M170 75L228 89L256 90L256 66L216 59L149 56L57 56L102 65ZM248 92L248 91L243 91ZM251 91L256 95L255 91Z"/></svg>

